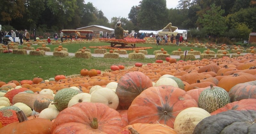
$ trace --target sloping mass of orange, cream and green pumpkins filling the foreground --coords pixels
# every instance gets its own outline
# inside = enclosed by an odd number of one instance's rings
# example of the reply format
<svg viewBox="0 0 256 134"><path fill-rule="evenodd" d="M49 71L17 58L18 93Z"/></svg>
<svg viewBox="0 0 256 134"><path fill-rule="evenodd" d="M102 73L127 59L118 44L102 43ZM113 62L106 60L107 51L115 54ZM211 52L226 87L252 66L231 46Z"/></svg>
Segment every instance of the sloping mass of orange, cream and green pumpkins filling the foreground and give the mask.
<svg viewBox="0 0 256 134"><path fill-rule="evenodd" d="M0 82L0 134L256 133L255 59L169 59Z"/></svg>

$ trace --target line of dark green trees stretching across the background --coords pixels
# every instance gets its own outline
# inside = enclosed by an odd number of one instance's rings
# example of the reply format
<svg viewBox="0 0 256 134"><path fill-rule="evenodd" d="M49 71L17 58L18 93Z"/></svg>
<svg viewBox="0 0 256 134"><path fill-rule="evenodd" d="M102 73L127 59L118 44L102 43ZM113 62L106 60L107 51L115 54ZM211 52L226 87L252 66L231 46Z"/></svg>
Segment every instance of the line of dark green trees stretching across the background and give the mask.
<svg viewBox="0 0 256 134"><path fill-rule="evenodd" d="M117 11L113 11L117 12ZM84 0L5 0L0 5L4 29L58 32L90 25L115 28L121 20L126 30L160 30L169 22L189 29L193 37L248 38L256 31L256 0L180 0L168 9L166 0L141 0L131 7L128 18L108 20L101 10Z"/></svg>

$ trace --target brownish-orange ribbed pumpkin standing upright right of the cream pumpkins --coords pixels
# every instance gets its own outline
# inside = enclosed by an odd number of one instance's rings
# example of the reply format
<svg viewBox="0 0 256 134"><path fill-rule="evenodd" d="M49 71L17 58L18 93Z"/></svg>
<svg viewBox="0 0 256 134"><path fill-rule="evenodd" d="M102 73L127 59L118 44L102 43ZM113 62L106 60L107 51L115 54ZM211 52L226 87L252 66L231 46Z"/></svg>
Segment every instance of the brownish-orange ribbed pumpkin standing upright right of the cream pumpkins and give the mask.
<svg viewBox="0 0 256 134"><path fill-rule="evenodd" d="M142 72L135 71L125 74L118 81L116 88L119 106L122 109L128 109L135 97L152 86L152 81Z"/></svg>

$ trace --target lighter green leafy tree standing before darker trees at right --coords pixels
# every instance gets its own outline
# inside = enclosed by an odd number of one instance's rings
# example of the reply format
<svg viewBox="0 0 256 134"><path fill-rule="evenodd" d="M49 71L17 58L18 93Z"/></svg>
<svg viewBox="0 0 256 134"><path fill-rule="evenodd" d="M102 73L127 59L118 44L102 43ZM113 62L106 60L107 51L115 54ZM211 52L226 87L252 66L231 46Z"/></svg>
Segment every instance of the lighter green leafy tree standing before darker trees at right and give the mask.
<svg viewBox="0 0 256 134"><path fill-rule="evenodd" d="M211 35L211 37L222 35L227 27L225 25L225 18L222 14L225 12L220 9L220 6L211 4L211 9L207 10L203 17L198 18L198 22L201 23L204 29Z"/></svg>

